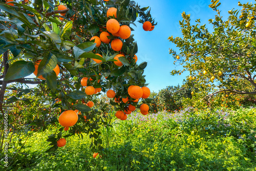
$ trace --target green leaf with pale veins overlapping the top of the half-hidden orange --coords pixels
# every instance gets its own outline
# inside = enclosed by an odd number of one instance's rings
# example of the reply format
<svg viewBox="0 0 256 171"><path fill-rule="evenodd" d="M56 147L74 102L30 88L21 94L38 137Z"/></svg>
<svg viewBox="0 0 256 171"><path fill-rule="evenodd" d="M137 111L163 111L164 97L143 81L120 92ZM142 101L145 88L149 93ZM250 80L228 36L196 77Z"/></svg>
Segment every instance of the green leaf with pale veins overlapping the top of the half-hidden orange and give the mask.
<svg viewBox="0 0 256 171"><path fill-rule="evenodd" d="M48 57L45 56L41 60L38 66L37 77L42 74L47 74L51 72L56 66L57 66L57 57L54 54L50 53Z"/></svg>

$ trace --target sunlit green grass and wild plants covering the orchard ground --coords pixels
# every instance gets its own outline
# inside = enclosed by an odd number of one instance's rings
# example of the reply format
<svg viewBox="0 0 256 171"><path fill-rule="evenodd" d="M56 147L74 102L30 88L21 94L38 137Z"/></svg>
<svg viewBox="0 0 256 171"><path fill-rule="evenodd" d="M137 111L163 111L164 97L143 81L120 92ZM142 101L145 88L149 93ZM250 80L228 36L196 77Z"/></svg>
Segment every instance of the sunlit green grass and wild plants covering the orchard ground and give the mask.
<svg viewBox="0 0 256 171"><path fill-rule="evenodd" d="M168 114L134 113L103 127L104 150L92 157L91 139L73 136L53 153L47 136L33 133L11 170L255 170L256 109L237 111L189 108ZM9 152L25 142L14 137ZM21 138L21 144L18 139ZM14 154L10 154L13 156Z"/></svg>

